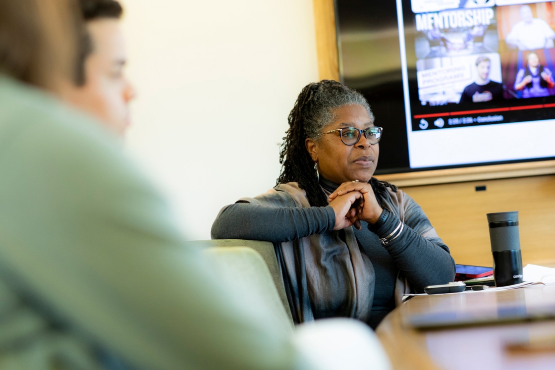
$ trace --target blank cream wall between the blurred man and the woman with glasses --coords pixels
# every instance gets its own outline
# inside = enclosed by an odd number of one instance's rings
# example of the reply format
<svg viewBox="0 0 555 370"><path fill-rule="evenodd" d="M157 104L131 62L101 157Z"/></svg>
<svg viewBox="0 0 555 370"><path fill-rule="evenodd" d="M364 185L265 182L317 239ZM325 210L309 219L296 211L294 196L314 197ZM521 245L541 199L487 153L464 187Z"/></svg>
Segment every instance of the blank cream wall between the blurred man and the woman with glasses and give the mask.
<svg viewBox="0 0 555 370"><path fill-rule="evenodd" d="M126 141L190 239L274 186L287 114L317 80L311 0L124 0L138 98Z"/></svg>

